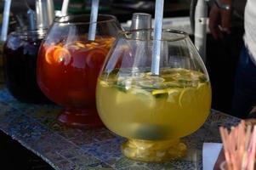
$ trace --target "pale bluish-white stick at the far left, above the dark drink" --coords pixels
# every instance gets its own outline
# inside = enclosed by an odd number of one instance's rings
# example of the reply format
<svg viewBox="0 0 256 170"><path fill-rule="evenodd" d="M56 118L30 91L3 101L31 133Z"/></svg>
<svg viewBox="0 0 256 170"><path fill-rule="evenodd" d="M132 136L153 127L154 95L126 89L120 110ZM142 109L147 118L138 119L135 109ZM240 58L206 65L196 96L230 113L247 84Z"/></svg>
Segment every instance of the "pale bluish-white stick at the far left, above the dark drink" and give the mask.
<svg viewBox="0 0 256 170"><path fill-rule="evenodd" d="M9 12L11 7L11 0L4 1L4 8L3 8L3 24L2 24L2 31L1 31L1 41L5 42L8 35L8 27L9 27Z"/></svg>

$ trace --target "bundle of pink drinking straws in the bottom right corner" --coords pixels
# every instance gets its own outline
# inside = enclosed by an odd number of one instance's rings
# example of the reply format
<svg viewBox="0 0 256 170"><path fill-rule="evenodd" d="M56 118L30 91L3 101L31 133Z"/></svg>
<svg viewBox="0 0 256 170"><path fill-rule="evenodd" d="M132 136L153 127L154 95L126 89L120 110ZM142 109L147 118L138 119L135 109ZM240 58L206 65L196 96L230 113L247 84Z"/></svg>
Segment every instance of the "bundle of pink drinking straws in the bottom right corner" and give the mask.
<svg viewBox="0 0 256 170"><path fill-rule="evenodd" d="M224 145L225 169L253 170L256 151L256 125L242 121L236 127L219 127Z"/></svg>

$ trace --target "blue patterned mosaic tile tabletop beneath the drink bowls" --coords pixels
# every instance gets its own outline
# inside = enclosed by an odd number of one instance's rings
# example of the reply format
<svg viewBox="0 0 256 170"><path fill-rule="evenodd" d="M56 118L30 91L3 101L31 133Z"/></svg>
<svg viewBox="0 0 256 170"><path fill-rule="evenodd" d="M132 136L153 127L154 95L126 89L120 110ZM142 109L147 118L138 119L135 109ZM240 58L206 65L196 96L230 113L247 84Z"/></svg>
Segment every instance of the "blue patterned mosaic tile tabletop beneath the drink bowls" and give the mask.
<svg viewBox="0 0 256 170"><path fill-rule="evenodd" d="M220 142L218 127L239 122L235 117L212 111L196 133L183 139L189 146L184 159L143 163L122 156L120 144L124 139L105 127L72 129L56 125L54 117L58 111L60 108L54 105L20 103L5 88L0 90L0 129L58 170L202 169L203 142Z"/></svg>

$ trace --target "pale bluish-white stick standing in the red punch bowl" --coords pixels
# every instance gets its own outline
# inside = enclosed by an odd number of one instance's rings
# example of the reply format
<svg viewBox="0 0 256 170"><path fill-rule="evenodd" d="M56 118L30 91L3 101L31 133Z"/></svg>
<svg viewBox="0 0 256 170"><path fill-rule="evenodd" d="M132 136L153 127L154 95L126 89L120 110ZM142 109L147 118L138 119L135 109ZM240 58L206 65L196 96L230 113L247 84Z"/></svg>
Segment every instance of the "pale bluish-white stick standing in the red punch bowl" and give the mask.
<svg viewBox="0 0 256 170"><path fill-rule="evenodd" d="M88 40L91 40L91 41L95 40L98 10L99 10L99 0L92 0L90 26L89 26L89 32L88 32Z"/></svg>

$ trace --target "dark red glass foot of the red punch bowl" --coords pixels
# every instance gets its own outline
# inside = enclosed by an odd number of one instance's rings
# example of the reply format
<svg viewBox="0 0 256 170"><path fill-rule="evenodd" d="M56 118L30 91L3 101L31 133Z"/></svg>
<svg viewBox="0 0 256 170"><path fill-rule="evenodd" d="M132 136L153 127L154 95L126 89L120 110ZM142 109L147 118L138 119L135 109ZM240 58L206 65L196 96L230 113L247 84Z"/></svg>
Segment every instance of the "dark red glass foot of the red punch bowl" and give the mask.
<svg viewBox="0 0 256 170"><path fill-rule="evenodd" d="M68 127L99 127L103 125L96 109L64 109L60 111L57 121Z"/></svg>

